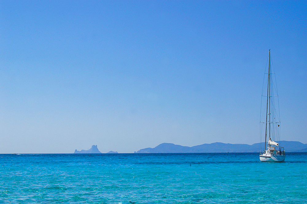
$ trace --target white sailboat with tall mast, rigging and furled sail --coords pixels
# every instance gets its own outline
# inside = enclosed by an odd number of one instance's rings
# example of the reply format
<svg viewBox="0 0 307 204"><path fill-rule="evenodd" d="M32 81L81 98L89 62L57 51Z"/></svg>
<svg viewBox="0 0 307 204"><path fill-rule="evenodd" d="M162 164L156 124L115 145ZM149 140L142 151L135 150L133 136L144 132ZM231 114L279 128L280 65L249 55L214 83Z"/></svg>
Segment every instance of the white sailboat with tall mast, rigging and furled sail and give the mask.
<svg viewBox="0 0 307 204"><path fill-rule="evenodd" d="M266 78L267 75L267 78ZM267 83L267 84L266 84ZM275 74L271 70L271 56L269 50L269 68L265 74L262 89L262 103L265 108L261 108L260 129L261 137L264 135L264 150L260 151L260 161L264 162L284 162L285 150L275 141L280 140L280 119L278 92ZM267 87L267 89L266 89ZM275 106L277 103L277 106ZM274 141L275 140L275 141ZM267 143L266 143L267 142ZM261 143L262 144L262 143Z"/></svg>

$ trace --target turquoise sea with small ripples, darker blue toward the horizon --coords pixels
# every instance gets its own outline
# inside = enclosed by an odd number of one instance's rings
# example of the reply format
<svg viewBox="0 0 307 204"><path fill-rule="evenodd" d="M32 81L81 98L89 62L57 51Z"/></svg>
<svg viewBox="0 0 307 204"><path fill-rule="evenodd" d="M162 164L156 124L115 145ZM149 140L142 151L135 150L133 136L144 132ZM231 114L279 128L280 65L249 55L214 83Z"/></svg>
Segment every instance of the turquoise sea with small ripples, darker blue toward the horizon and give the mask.
<svg viewBox="0 0 307 204"><path fill-rule="evenodd" d="M307 153L0 154L0 203L307 203Z"/></svg>

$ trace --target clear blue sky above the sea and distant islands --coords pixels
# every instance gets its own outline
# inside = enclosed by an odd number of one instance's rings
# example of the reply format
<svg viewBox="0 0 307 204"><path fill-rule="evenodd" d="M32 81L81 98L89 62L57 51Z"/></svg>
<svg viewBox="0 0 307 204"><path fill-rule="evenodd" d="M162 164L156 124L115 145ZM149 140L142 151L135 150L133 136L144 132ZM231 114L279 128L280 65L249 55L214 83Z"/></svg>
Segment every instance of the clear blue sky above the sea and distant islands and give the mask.
<svg viewBox="0 0 307 204"><path fill-rule="evenodd" d="M306 1L1 1L0 153L307 143Z"/></svg>

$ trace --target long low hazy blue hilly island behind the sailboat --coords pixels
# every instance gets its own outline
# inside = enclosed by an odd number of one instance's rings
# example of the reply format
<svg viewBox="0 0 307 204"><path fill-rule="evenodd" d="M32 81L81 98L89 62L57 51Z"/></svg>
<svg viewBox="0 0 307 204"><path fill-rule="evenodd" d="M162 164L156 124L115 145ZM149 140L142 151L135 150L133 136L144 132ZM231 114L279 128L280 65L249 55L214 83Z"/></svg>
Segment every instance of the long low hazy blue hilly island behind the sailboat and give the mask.
<svg viewBox="0 0 307 204"><path fill-rule="evenodd" d="M295 141L280 141L280 145L286 152L307 152L307 144ZM260 152L264 143L249 144L225 144L215 142L201 144L193 147L181 146L172 143L162 143L155 148L140 149L136 153L218 153L218 152Z"/></svg>

